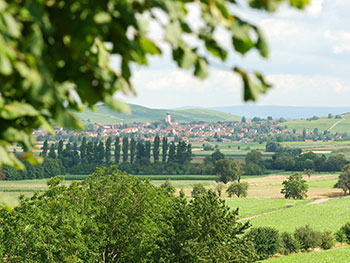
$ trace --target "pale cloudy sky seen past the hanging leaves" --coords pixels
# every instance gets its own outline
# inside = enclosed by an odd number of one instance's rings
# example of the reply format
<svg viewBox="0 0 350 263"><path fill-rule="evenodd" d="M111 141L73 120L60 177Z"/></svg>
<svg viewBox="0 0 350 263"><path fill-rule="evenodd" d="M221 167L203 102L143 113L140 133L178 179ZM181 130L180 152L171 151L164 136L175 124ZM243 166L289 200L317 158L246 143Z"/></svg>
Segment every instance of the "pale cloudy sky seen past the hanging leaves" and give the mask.
<svg viewBox="0 0 350 263"><path fill-rule="evenodd" d="M163 57L151 59L149 67L134 68L137 97L123 100L151 108L241 105L242 83L228 70L240 65L263 72L274 84L257 105L350 106L350 0L311 2L304 12L287 7L275 14L245 12L244 18L265 32L269 58L256 52L244 57L232 52L226 65L212 68L204 81L178 69L168 47L159 43ZM197 15L191 6L189 19L198 21ZM150 37L157 39L162 32L155 25L150 27ZM218 31L216 38L230 45L225 32Z"/></svg>

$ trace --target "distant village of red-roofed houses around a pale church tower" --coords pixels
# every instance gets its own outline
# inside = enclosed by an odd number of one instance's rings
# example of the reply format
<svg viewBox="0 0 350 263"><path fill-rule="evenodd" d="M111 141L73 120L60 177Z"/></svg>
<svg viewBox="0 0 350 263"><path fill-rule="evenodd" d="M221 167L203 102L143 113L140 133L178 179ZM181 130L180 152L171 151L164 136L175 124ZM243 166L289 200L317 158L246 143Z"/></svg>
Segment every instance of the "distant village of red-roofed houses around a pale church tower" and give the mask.
<svg viewBox="0 0 350 263"><path fill-rule="evenodd" d="M241 121L219 122L191 122L178 123L172 119L169 113L163 120L145 123L120 123L114 125L102 125L97 123L84 123L85 130L72 131L63 128L55 128L56 139L75 141L82 137L106 139L109 136L135 137L141 141L153 142L155 136L167 137L168 141L185 141L196 143L207 142L266 142L275 140L283 141L335 141L341 140L339 134L331 134L326 131L296 131L288 129L284 125L283 118L267 119L242 117ZM33 132L39 141L46 139L47 133L43 130ZM79 139L80 138L80 139Z"/></svg>

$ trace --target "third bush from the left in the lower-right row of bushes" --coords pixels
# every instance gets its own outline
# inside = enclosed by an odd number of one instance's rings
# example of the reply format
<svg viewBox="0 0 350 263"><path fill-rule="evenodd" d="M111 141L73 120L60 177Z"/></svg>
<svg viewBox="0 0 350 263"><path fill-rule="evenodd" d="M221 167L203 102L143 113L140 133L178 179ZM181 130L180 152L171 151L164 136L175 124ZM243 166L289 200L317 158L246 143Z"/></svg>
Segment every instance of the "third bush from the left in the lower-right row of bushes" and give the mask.
<svg viewBox="0 0 350 263"><path fill-rule="evenodd" d="M294 233L295 239L303 250L321 246L321 236L320 232L313 230L309 225L297 228Z"/></svg>

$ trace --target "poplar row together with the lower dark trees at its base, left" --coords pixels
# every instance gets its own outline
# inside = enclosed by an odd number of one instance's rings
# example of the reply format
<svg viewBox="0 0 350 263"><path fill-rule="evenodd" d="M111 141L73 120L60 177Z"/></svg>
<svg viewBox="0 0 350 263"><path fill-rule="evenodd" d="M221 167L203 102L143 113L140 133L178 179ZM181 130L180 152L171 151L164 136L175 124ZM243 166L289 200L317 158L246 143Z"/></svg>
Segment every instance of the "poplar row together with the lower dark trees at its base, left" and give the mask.
<svg viewBox="0 0 350 263"><path fill-rule="evenodd" d="M83 137L79 146L76 142L64 145L63 140L49 145L46 140L40 155L45 158L44 163L33 166L25 162L27 169L24 171L6 167L3 170L4 179L50 178L65 173L90 174L96 167L112 164L118 164L122 171L133 174L185 174L191 163L192 146L184 141L168 143L166 137L161 142L159 136L155 137L153 144L127 137L115 137L113 142L109 137L105 143L88 141ZM198 174L198 169L189 171ZM203 171L199 174L211 173Z"/></svg>

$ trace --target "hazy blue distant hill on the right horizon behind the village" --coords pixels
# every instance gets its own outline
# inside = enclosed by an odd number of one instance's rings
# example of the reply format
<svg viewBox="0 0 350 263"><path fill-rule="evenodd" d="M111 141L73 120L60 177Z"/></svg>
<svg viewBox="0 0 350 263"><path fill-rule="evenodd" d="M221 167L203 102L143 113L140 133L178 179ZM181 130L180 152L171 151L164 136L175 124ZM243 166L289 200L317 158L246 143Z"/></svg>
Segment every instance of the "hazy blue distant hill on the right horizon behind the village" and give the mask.
<svg viewBox="0 0 350 263"><path fill-rule="evenodd" d="M292 107L292 106L229 106L229 107L213 107L213 110L218 110L226 113L231 113L248 118L260 117L266 118L272 116L273 118L283 117L289 120L298 120L301 118L309 118L312 116L327 116L328 113L333 115L350 112L350 107Z"/></svg>

